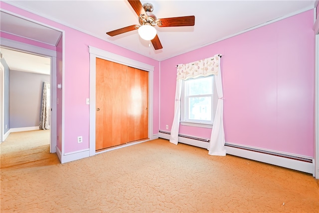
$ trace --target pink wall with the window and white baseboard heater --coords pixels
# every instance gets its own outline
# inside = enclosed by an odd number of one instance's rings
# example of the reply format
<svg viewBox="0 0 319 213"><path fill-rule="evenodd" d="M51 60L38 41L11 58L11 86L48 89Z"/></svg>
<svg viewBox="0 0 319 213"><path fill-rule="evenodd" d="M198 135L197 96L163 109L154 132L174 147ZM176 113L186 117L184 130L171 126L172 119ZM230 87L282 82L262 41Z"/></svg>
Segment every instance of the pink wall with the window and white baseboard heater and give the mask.
<svg viewBox="0 0 319 213"><path fill-rule="evenodd" d="M313 157L313 16L309 10L161 61L160 130L173 120L175 66L220 53L226 142ZM211 129L179 132L209 138Z"/></svg>

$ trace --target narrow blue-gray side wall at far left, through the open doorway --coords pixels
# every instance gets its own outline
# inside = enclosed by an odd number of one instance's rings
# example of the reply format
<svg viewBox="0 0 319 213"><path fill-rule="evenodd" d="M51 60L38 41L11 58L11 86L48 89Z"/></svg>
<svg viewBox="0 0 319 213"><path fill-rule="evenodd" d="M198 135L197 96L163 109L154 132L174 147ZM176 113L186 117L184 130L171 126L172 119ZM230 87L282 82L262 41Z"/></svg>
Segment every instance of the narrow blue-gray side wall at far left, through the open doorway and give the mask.
<svg viewBox="0 0 319 213"><path fill-rule="evenodd" d="M4 116L3 116L3 129L4 129L4 134L10 129L10 95L9 95L9 88L10 88L10 69L9 66L7 65L6 61L4 58L0 59L1 64L4 67L4 105L3 105L3 111L4 111Z"/></svg>

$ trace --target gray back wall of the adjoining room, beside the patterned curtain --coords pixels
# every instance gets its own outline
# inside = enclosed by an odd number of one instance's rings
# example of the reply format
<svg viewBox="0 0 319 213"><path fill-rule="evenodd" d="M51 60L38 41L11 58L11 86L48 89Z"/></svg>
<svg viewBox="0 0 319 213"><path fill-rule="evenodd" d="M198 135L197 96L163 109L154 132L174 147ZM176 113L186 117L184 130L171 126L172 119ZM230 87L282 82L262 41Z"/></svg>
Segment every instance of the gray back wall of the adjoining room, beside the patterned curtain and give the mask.
<svg viewBox="0 0 319 213"><path fill-rule="evenodd" d="M10 70L10 128L39 126L43 81L50 75Z"/></svg>

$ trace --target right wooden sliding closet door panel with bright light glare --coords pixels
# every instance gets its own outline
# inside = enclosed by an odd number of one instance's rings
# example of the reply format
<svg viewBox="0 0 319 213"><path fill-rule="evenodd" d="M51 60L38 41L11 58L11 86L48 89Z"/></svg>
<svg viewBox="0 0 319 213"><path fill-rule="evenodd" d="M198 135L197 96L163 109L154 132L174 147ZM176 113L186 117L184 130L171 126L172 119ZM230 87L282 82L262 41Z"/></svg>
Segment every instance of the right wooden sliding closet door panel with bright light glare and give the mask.
<svg viewBox="0 0 319 213"><path fill-rule="evenodd" d="M128 141L148 138L149 72L128 67Z"/></svg>

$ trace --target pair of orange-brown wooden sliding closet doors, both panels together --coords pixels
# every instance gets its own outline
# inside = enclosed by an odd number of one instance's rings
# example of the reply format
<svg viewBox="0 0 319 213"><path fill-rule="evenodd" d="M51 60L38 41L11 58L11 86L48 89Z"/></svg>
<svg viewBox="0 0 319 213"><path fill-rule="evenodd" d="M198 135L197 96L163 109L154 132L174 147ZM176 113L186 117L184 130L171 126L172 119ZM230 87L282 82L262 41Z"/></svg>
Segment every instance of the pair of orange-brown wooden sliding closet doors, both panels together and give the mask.
<svg viewBox="0 0 319 213"><path fill-rule="evenodd" d="M148 138L149 73L96 58L96 151Z"/></svg>

